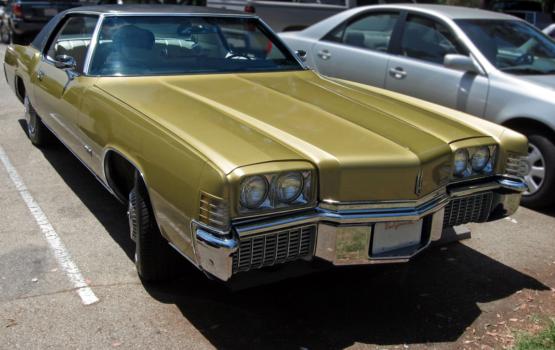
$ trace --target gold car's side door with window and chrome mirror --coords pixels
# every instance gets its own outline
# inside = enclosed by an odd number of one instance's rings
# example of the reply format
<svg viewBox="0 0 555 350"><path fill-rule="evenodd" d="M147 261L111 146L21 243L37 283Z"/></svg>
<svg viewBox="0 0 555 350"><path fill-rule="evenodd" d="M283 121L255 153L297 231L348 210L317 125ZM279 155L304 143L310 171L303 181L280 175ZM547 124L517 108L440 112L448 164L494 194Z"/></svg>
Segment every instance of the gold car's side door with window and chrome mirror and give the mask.
<svg viewBox="0 0 555 350"><path fill-rule="evenodd" d="M58 30L48 38L37 64L34 106L41 118L62 141L82 156L83 144L77 132L79 104L83 88L93 77L83 73L85 57L98 16L75 15L60 20ZM58 68L57 61L72 57L75 66ZM58 62L59 64L60 62Z"/></svg>

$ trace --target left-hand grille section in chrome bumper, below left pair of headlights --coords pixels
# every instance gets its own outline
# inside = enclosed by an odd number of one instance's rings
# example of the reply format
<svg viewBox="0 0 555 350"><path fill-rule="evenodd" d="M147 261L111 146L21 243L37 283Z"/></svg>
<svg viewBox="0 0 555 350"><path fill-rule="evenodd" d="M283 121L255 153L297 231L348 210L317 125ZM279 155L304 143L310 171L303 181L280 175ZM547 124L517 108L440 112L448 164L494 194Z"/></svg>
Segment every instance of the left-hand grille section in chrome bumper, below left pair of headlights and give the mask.
<svg viewBox="0 0 555 350"><path fill-rule="evenodd" d="M233 273L306 257L310 253L316 226L241 237L233 254Z"/></svg>

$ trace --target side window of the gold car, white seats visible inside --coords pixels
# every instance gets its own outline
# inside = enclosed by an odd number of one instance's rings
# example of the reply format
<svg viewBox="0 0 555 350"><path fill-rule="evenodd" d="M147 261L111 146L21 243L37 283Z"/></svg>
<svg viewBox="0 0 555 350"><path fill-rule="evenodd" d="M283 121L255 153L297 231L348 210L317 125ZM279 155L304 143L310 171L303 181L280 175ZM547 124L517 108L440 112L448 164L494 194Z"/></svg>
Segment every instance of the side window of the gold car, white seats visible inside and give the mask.
<svg viewBox="0 0 555 350"><path fill-rule="evenodd" d="M56 61L56 56L73 57L74 71L83 73L85 57L97 22L96 16L70 17L49 43L46 59Z"/></svg>

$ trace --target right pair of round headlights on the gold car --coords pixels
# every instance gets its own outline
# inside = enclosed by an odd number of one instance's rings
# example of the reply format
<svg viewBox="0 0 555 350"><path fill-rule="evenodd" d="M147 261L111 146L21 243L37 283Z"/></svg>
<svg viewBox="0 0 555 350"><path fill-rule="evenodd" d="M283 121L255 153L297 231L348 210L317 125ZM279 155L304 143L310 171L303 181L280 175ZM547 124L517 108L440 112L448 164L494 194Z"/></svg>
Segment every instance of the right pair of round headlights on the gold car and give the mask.
<svg viewBox="0 0 555 350"><path fill-rule="evenodd" d="M460 178L493 171L495 149L495 145L458 149L453 162L453 177Z"/></svg>

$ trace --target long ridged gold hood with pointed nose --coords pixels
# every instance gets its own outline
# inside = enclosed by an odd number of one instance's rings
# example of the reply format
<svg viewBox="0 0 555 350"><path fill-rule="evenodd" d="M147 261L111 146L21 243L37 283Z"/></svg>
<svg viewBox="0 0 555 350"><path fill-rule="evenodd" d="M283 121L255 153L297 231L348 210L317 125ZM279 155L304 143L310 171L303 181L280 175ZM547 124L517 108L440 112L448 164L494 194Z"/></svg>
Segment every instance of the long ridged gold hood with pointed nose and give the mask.
<svg viewBox="0 0 555 350"><path fill-rule="evenodd" d="M225 173L306 160L319 198L415 199L450 177L449 144L487 137L462 122L314 71L102 77L95 84L205 154Z"/></svg>

